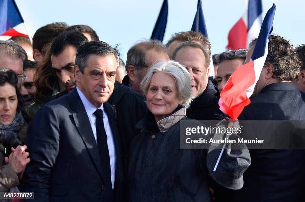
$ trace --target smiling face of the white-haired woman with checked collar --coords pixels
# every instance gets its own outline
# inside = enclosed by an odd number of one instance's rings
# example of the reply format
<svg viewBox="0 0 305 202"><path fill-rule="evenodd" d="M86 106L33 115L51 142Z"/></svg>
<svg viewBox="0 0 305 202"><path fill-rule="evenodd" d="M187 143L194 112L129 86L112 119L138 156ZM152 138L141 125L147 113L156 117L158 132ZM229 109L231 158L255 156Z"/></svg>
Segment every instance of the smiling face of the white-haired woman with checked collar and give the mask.
<svg viewBox="0 0 305 202"><path fill-rule="evenodd" d="M183 103L183 100L179 99L174 78L164 72L152 75L146 98L147 106L156 121L167 117Z"/></svg>

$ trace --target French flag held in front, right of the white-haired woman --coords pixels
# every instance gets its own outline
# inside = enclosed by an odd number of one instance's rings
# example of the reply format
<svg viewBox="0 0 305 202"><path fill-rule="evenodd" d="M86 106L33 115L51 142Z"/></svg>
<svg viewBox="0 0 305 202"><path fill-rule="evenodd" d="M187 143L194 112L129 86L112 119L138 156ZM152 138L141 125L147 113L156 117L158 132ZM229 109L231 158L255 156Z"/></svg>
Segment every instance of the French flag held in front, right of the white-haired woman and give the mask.
<svg viewBox="0 0 305 202"><path fill-rule="evenodd" d="M239 66L220 93L220 110L237 120L244 107L250 104L249 97L259 79L268 54L268 37L272 32L276 6L268 10L249 63Z"/></svg>

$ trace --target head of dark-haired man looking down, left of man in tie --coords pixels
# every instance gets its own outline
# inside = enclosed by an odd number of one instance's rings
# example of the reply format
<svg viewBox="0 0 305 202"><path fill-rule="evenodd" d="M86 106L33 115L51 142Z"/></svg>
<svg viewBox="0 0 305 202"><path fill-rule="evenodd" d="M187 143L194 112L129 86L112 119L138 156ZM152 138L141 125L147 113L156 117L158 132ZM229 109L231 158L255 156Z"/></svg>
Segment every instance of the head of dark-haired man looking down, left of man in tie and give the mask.
<svg viewBox="0 0 305 202"><path fill-rule="evenodd" d="M61 97L74 89L74 63L76 50L88 42L88 39L80 32L63 32L52 42L50 54L52 68L65 90L53 98Z"/></svg>

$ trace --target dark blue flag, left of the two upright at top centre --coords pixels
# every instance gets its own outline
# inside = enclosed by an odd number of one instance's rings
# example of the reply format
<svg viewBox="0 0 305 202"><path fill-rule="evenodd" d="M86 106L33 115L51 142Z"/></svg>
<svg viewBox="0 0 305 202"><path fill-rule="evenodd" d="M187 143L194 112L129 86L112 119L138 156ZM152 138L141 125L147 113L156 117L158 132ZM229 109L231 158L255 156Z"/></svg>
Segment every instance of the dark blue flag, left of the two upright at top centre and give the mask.
<svg viewBox="0 0 305 202"><path fill-rule="evenodd" d="M168 2L164 0L159 17L155 23L154 29L152 31L151 39L163 41L168 15Z"/></svg>

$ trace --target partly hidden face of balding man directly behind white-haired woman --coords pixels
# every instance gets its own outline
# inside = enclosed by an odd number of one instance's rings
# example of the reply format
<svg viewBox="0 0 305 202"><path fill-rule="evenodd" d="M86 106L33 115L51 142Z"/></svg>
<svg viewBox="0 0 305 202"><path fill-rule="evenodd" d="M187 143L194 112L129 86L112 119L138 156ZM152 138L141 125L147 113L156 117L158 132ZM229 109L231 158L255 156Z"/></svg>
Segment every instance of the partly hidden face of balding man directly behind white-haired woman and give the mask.
<svg viewBox="0 0 305 202"><path fill-rule="evenodd" d="M169 57L164 52L158 52L154 49L150 49L145 54L145 60L146 60L145 64L149 68L156 62L169 61ZM141 84L141 81L143 80L144 76L146 75L148 68L142 68L140 74L138 72L135 72L134 82L132 85L133 90L135 90L137 92L141 92L140 84Z"/></svg>

